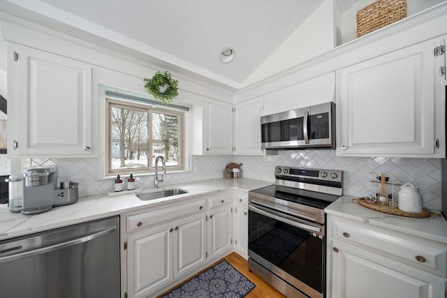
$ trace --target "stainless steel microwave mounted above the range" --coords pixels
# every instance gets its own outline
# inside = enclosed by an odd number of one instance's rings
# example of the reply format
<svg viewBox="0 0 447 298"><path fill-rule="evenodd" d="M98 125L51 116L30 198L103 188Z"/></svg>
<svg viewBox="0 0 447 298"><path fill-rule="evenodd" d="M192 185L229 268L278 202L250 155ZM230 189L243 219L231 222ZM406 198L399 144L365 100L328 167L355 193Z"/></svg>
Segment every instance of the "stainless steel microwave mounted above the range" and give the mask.
<svg viewBox="0 0 447 298"><path fill-rule="evenodd" d="M335 148L335 103L261 117L263 149Z"/></svg>

